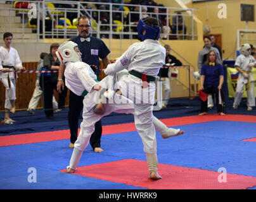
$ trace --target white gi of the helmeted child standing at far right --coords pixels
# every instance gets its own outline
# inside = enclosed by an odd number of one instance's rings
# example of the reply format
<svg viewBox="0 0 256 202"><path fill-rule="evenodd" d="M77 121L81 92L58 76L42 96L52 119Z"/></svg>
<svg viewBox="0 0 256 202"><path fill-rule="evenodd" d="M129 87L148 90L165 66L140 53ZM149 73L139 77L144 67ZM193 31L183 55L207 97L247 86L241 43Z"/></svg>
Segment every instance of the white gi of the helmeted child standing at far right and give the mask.
<svg viewBox="0 0 256 202"><path fill-rule="evenodd" d="M243 74L239 73L238 83L236 85L236 93L234 95L234 104L233 106L238 107L240 105L242 96L243 96L243 88L248 83L250 79L250 89L247 90L247 106L254 107L255 106L255 95L254 95L254 78L252 74L252 67L248 68L248 64L251 62L256 63L253 56L244 56L241 54L236 58L236 62L234 66L239 66L243 71L246 71L249 78L245 78Z"/></svg>

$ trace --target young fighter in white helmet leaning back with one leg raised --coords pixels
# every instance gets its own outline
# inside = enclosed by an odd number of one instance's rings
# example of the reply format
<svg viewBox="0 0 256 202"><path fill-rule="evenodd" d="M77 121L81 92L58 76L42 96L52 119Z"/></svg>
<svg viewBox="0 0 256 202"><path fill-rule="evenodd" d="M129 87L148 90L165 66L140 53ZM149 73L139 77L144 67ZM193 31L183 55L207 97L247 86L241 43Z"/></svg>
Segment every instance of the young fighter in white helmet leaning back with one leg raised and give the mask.
<svg viewBox="0 0 256 202"><path fill-rule="evenodd" d="M70 159L70 165L67 167L67 172L71 173L77 169L80 157L82 156L82 151L84 151L88 145L91 134L94 131L95 122L112 112L134 114L134 104L126 97L118 95L117 93L112 93L112 97L114 97L115 100L123 101L122 104L116 104L114 102L113 104L104 104L105 112L102 114L95 114L94 106L99 103L101 94L108 88L108 79L110 76L106 76L106 78L97 83L96 74L94 74L90 66L84 62L80 62L81 53L77 44L74 42L68 41L61 44L56 55L61 62L65 63L65 84L67 85L67 88L79 96L85 96L83 101L83 121L80 124L79 137L77 141L75 141L75 148ZM127 75L127 72L117 73L116 75L115 80L118 79L118 76L122 78L122 76ZM111 79L112 77L110 77L110 80ZM167 128L167 126L156 117L153 117L153 122L155 128L162 134L163 138L169 138L170 136L177 136L183 133L180 129Z"/></svg>

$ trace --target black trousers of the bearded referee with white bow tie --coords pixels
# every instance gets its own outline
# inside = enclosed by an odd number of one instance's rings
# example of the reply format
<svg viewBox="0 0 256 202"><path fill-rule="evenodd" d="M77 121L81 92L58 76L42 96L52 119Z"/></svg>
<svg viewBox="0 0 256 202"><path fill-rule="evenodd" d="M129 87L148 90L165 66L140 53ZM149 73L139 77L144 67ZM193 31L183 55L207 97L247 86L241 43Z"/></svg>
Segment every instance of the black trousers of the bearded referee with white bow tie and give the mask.
<svg viewBox="0 0 256 202"><path fill-rule="evenodd" d="M75 95L75 93L73 93L70 90L68 126L70 129L70 142L73 144L77 140L79 117L84 107L82 103L83 100L84 100L84 97ZM95 131L90 138L90 144L93 150L94 148L101 146L101 134L102 134L102 126L101 126L101 120L99 120L98 122L95 123Z"/></svg>

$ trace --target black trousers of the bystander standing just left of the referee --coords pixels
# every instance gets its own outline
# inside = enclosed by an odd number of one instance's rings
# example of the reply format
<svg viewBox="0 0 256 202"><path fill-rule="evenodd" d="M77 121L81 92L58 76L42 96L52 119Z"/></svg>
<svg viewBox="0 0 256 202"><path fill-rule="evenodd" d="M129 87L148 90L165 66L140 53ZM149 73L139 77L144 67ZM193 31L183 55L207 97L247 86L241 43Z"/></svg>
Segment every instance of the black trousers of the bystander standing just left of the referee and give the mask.
<svg viewBox="0 0 256 202"><path fill-rule="evenodd" d="M53 117L53 90L57 91L57 80L54 77L47 77L41 74L39 84L43 92L44 113L47 117ZM58 93L58 109L65 107L65 98L67 96L67 87L61 93Z"/></svg>

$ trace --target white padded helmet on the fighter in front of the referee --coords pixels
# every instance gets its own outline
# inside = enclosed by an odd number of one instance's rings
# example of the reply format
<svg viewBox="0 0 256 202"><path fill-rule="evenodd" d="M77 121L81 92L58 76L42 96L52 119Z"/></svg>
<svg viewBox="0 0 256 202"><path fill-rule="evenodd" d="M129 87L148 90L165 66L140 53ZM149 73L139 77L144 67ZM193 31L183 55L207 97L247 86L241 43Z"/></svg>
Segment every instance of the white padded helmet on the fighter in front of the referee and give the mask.
<svg viewBox="0 0 256 202"><path fill-rule="evenodd" d="M60 45L58 50L56 51L56 55L61 62L64 64L65 62L79 62L80 56L75 52L74 48L78 45L75 42L68 41Z"/></svg>

